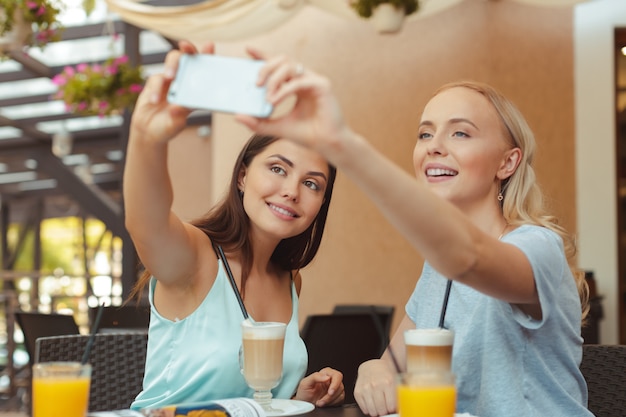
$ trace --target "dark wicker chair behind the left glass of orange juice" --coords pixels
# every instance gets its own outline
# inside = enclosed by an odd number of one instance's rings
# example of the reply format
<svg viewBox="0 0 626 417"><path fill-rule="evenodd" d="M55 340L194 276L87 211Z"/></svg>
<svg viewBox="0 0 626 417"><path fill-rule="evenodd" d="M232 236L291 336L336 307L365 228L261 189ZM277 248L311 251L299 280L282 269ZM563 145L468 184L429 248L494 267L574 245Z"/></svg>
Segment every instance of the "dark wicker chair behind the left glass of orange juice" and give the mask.
<svg viewBox="0 0 626 417"><path fill-rule="evenodd" d="M89 411L128 409L142 389L147 331L99 333L89 362L92 365ZM36 342L36 362L80 362L87 335L42 337Z"/></svg>

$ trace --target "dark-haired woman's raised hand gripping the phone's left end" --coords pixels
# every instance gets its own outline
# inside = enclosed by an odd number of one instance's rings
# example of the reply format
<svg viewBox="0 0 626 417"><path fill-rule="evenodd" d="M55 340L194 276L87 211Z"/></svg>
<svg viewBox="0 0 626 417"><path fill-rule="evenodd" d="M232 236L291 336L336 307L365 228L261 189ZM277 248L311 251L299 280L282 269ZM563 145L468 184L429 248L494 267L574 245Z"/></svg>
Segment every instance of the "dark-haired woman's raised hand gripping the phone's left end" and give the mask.
<svg viewBox="0 0 626 417"><path fill-rule="evenodd" d="M197 48L187 41L179 42L179 49L168 52L164 70L148 78L137 99L131 121L131 131L143 140L167 142L182 131L187 123L190 109L168 103L167 91L178 70L182 54L198 53ZM203 53L213 53L214 45L208 43ZM198 80L202 82L202 80Z"/></svg>

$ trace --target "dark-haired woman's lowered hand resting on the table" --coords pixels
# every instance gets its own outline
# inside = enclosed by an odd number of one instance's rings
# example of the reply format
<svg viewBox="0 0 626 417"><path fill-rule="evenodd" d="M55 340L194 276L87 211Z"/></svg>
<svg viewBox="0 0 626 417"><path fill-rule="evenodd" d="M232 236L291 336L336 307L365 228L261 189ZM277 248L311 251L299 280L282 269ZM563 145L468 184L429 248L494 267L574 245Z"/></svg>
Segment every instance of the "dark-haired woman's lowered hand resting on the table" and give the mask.
<svg viewBox="0 0 626 417"><path fill-rule="evenodd" d="M343 404L345 391L343 374L336 369L324 368L302 378L294 400L307 401L316 407Z"/></svg>

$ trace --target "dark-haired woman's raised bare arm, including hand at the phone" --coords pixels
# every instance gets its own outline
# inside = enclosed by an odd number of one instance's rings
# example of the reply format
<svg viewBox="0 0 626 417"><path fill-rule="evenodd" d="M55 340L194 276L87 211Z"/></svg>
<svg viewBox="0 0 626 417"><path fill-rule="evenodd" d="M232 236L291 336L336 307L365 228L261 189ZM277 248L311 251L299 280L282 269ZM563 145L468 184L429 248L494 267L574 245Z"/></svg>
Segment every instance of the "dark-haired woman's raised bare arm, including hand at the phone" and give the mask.
<svg viewBox="0 0 626 417"><path fill-rule="evenodd" d="M172 212L167 168L168 143L184 129L189 110L170 105L166 94L180 54L195 52L181 42L180 50L167 55L164 72L148 79L133 112L126 155L126 228L144 265L164 284L191 276L199 242L206 240Z"/></svg>

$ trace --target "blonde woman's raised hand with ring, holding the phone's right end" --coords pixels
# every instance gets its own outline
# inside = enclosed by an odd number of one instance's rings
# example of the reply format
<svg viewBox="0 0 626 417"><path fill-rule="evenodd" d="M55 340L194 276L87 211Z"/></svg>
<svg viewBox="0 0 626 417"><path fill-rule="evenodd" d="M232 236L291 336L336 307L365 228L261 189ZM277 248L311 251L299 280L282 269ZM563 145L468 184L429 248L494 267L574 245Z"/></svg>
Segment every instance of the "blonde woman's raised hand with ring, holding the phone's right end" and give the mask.
<svg viewBox="0 0 626 417"><path fill-rule="evenodd" d="M256 50L248 49L248 52L255 59L264 59ZM239 122L256 133L297 141L326 157L333 154L333 148L342 139L353 134L328 78L279 56L266 60L258 84L266 86L267 100L275 107L291 96L296 101L291 111L275 118L237 115Z"/></svg>

